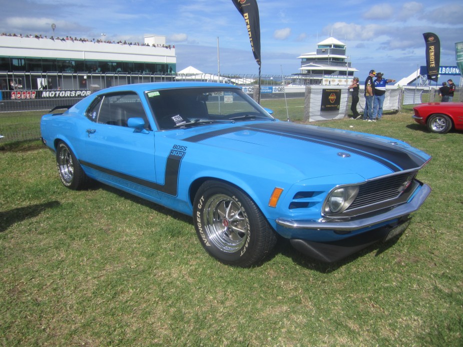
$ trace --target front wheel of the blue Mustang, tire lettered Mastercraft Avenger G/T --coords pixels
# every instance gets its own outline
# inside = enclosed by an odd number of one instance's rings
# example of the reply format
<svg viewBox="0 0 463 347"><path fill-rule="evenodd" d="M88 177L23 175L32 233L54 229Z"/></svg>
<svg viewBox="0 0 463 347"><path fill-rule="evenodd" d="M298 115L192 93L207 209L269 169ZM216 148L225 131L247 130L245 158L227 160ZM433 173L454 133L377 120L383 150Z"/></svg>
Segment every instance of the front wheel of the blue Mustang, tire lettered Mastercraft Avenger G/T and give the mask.
<svg viewBox="0 0 463 347"><path fill-rule="evenodd" d="M203 183L196 194L193 213L202 246L225 264L249 267L275 246L276 234L260 209L232 185Z"/></svg>

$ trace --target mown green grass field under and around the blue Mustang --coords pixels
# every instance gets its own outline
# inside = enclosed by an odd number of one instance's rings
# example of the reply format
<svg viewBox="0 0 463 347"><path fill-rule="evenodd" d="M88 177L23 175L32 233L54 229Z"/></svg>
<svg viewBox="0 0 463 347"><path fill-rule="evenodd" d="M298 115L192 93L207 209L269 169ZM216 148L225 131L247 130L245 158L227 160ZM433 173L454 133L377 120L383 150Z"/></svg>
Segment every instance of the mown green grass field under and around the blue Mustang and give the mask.
<svg viewBox="0 0 463 347"><path fill-rule="evenodd" d="M428 152L418 179L433 191L400 238L332 265L285 241L260 266L223 265L190 217L68 190L42 147L0 151L0 344L462 345L463 134L383 118L317 125Z"/></svg>

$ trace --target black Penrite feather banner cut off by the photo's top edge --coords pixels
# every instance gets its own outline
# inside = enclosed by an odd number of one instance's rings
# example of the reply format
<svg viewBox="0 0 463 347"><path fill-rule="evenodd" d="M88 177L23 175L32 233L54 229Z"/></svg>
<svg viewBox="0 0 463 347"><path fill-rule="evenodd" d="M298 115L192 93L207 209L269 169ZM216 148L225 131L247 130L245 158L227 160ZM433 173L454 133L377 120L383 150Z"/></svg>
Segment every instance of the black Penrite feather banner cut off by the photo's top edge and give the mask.
<svg viewBox="0 0 463 347"><path fill-rule="evenodd" d="M232 0L232 2L244 18L249 41L251 41L252 53L254 53L254 58L260 66L260 22L257 0Z"/></svg>

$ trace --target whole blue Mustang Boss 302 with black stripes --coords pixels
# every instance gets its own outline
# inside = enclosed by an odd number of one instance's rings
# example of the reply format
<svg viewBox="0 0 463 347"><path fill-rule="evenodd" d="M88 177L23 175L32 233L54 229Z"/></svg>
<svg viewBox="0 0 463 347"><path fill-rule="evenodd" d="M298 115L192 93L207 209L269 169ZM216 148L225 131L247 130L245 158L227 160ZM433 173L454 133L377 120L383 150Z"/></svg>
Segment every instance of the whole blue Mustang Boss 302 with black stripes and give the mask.
<svg viewBox="0 0 463 347"><path fill-rule="evenodd" d="M430 156L398 140L278 121L235 86L153 83L96 92L42 117L62 183L96 180L193 217L237 266L277 235L324 262L400 234L430 188Z"/></svg>

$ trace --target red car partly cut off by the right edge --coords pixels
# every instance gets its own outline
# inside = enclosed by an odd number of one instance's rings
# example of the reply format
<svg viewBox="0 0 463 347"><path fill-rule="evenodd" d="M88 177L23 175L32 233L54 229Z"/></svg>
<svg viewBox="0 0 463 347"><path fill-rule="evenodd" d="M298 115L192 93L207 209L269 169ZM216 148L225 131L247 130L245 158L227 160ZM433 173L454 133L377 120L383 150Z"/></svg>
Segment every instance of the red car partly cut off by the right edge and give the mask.
<svg viewBox="0 0 463 347"><path fill-rule="evenodd" d="M463 103L426 103L413 107L416 123L438 134L450 129L463 130Z"/></svg>

